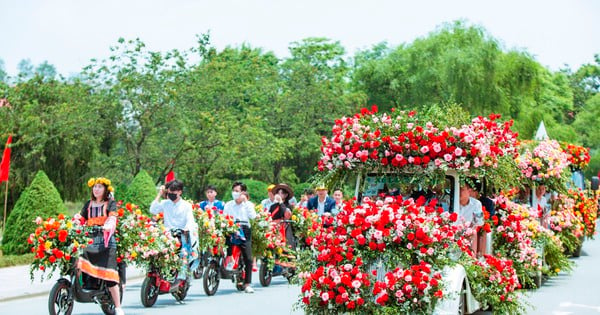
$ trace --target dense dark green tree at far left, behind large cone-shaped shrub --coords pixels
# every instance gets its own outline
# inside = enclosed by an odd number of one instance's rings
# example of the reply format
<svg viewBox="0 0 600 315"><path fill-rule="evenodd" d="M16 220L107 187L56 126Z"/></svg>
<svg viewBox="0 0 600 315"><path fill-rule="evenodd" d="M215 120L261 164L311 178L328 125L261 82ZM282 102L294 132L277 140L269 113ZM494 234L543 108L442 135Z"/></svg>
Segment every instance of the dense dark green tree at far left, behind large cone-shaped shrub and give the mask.
<svg viewBox="0 0 600 315"><path fill-rule="evenodd" d="M5 91L12 106L0 110L6 122L0 132L14 135L11 190L22 191L43 169L65 199L80 199L85 190L79 183L88 177L103 129L114 121L102 117L104 107L80 81L35 76Z"/></svg>

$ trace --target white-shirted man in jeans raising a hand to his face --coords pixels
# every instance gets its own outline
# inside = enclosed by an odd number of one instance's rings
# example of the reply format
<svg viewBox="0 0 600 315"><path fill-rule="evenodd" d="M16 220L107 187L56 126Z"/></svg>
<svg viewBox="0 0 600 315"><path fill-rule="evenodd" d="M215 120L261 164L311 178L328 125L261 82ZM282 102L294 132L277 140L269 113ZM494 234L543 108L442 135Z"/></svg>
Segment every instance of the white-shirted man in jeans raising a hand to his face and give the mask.
<svg viewBox="0 0 600 315"><path fill-rule="evenodd" d="M195 244L194 247L198 244L198 225L196 224L196 220L194 220L192 205L181 198L182 192L183 182L177 179L168 182L165 186L161 186L158 195L156 195L156 198L154 198L154 201L150 205L150 213L163 213L164 224L167 229L180 229L189 235L189 240L187 237L181 238L181 248L191 249L192 246L190 244ZM165 193L167 199L161 201L160 198ZM183 255L191 257L189 255L193 255L193 253L182 250L180 255L182 257ZM196 255L195 257L198 256ZM177 279L171 285L171 291L176 291L186 277L187 266L182 264L180 271L177 273Z"/></svg>

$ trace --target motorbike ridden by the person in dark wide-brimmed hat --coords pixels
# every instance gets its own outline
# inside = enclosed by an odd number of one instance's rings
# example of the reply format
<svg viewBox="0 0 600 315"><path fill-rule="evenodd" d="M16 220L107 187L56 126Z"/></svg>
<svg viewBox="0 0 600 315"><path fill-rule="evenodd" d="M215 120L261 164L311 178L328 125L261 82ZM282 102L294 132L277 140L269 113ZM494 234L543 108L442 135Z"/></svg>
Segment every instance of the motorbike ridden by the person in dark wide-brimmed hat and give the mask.
<svg viewBox="0 0 600 315"><path fill-rule="evenodd" d="M281 220L279 222L279 224L284 227L283 231L287 231L288 229L291 229L292 221L291 220ZM282 232L285 233L285 232ZM282 235L282 237L284 237ZM295 249L295 240L292 239L290 240L289 238L293 237L293 233L287 233L287 243L288 245L290 245L292 247L292 249ZM282 258L284 258L283 256L286 256L284 261ZM267 258L267 257L263 257L261 259L261 263L260 263L260 269L258 271L258 279L260 280L260 284L263 287L268 287L271 284L271 279L273 277L277 277L277 276L283 276L284 278L286 278L288 280L288 282L291 283L292 278L294 277L294 275L296 274L296 264L295 264L295 256L291 255L290 253L282 253L281 255L279 255L279 257L275 257L273 258Z"/></svg>

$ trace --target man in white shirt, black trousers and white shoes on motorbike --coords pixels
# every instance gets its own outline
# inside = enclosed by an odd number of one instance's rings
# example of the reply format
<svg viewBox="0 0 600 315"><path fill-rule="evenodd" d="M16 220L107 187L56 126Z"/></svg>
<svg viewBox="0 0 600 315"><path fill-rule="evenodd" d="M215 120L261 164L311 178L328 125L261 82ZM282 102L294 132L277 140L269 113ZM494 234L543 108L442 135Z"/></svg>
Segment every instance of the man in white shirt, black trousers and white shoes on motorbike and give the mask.
<svg viewBox="0 0 600 315"><path fill-rule="evenodd" d="M247 187L242 182L235 182L231 186L231 197L233 200L228 201L225 204L224 214L228 214L233 217L234 221L240 226L244 233L245 240L242 245L242 257L244 259L244 266L246 268L246 277L244 278L244 292L254 293L254 290L250 286L252 283L252 230L250 228L250 220L256 218L256 210L254 204L248 201ZM231 256L231 244L229 238L227 238L228 248L227 255Z"/></svg>

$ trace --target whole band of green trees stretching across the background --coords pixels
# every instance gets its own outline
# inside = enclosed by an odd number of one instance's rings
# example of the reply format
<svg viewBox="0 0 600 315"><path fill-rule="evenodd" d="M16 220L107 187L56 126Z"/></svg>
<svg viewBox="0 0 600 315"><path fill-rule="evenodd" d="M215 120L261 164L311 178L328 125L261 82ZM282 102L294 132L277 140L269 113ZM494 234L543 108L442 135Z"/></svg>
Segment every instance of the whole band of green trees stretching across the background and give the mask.
<svg viewBox="0 0 600 315"><path fill-rule="evenodd" d="M11 78L0 62L0 98L11 104L0 108L0 140L13 134L14 143L10 205L38 170L71 201L85 198L92 175L128 185L142 169L154 184L174 170L193 199L208 184L223 196L239 178L299 185L334 119L371 104L500 113L522 139L543 120L552 138L592 149L590 173L600 167L600 57L553 72L464 21L354 56L327 38L293 42L287 58L248 44L217 50L208 34L183 51L152 51L140 39L110 50L69 79L26 59Z"/></svg>

